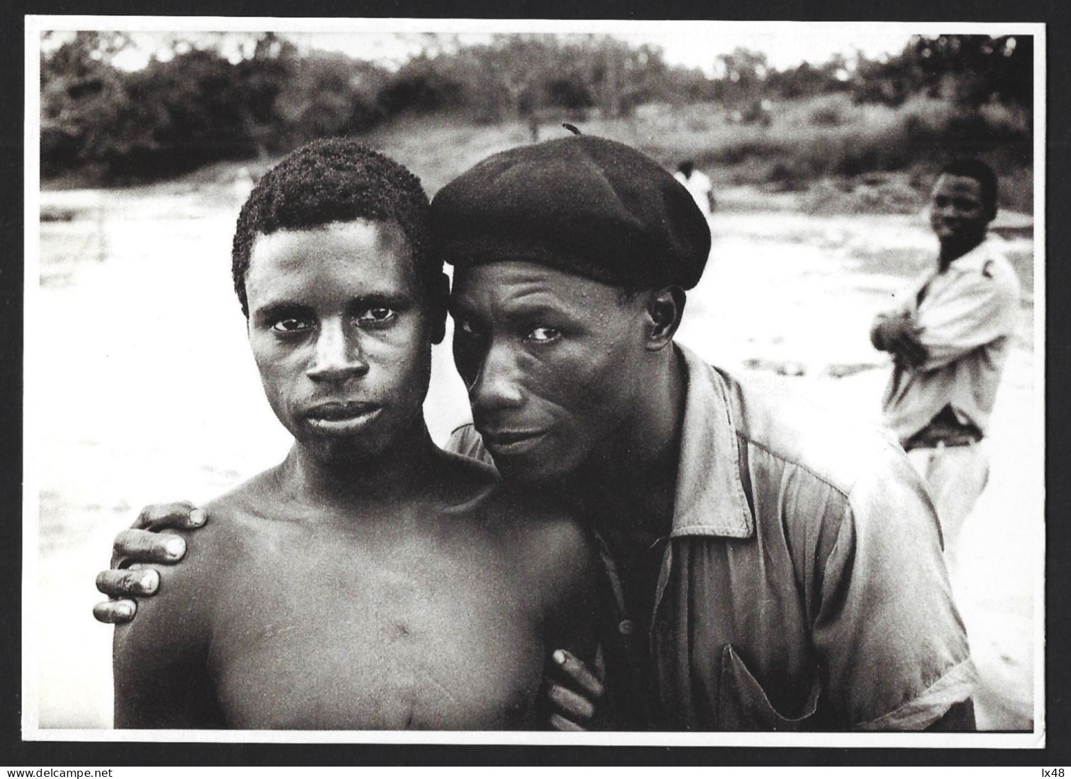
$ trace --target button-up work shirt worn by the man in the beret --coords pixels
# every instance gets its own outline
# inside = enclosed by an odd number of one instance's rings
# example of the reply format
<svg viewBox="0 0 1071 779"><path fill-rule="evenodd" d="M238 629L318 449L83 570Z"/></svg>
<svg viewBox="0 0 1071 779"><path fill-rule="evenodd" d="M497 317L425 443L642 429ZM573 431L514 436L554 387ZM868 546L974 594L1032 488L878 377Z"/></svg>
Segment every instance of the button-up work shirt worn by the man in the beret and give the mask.
<svg viewBox="0 0 1071 779"><path fill-rule="evenodd" d="M629 635L623 602L615 616L627 642L649 642L654 726L911 730L967 700L977 674L939 525L896 443L680 351L650 632ZM485 455L470 425L452 448Z"/></svg>

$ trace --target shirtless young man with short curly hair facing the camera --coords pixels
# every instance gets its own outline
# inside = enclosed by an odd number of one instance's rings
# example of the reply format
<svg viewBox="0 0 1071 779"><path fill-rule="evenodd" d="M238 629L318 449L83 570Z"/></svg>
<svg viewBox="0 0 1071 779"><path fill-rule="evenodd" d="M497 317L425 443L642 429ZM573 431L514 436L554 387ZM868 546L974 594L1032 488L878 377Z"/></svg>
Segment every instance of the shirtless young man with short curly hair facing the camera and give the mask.
<svg viewBox="0 0 1071 779"><path fill-rule="evenodd" d="M586 535L428 436L426 230L419 180L349 141L251 194L235 287L295 445L116 628L117 726L533 729L548 649L591 658Z"/></svg>

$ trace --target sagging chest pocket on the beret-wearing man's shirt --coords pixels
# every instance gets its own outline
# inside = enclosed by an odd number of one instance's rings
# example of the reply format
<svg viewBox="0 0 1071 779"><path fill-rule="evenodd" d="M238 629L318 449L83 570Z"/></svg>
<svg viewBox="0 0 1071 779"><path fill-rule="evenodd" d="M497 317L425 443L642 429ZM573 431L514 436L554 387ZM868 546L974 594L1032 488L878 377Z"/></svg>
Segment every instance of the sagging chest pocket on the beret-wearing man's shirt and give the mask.
<svg viewBox="0 0 1071 779"><path fill-rule="evenodd" d="M718 688L719 730L726 731L801 731L814 725L820 684L817 673L801 713L785 717L771 704L731 644L722 649L721 680Z"/></svg>

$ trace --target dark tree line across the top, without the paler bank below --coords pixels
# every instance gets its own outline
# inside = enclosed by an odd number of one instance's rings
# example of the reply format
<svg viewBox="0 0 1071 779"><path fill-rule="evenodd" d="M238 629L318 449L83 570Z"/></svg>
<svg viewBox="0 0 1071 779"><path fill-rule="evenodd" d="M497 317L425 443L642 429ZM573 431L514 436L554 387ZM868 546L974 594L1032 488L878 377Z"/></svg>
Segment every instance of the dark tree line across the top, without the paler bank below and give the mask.
<svg viewBox="0 0 1071 779"><path fill-rule="evenodd" d="M222 36L139 70L114 64L130 41L78 32L43 50L41 163L45 176L87 171L102 181L151 180L218 160L265 158L312 138L356 135L406 115L449 114L478 123L548 116L629 116L647 103L720 104L746 118L763 101L842 92L899 105L926 94L960 107L1031 108L1030 36L915 36L891 57L770 68L737 49L716 75L673 66L652 46L607 35L498 35L441 45L397 70L341 54L301 54L285 38L251 36L242 57ZM752 111L753 113L753 111Z"/></svg>

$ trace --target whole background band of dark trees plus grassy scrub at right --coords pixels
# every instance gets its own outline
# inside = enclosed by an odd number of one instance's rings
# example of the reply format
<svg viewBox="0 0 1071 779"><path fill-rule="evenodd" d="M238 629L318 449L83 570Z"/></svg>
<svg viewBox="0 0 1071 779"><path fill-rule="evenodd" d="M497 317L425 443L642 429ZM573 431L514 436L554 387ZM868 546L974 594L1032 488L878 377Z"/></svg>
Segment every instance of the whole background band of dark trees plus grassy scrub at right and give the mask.
<svg viewBox="0 0 1071 779"><path fill-rule="evenodd" d="M129 44L121 33L79 32L50 47L42 56L43 173L160 178L401 117L522 122L536 137L548 121L588 130L646 110L684 117L672 132L707 162L761 164L788 185L896 169L949 148L1029 156L1029 36L917 36L880 61L836 55L783 71L738 48L718 57L714 77L608 35L496 35L476 45L423 36L422 54L393 72L302 54L272 33L248 35L237 58L220 42L177 39L133 72L114 64Z"/></svg>

